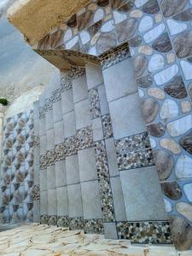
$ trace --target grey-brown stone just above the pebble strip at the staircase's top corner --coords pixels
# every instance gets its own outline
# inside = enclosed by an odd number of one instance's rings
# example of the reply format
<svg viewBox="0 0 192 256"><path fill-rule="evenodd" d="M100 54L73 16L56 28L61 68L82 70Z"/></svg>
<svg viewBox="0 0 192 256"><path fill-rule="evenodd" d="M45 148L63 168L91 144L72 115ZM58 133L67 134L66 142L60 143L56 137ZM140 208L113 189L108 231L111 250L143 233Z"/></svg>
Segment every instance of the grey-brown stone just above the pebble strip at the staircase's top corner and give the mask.
<svg viewBox="0 0 192 256"><path fill-rule="evenodd" d="M124 20L116 26L119 43L127 41L137 30L138 21L135 19Z"/></svg>

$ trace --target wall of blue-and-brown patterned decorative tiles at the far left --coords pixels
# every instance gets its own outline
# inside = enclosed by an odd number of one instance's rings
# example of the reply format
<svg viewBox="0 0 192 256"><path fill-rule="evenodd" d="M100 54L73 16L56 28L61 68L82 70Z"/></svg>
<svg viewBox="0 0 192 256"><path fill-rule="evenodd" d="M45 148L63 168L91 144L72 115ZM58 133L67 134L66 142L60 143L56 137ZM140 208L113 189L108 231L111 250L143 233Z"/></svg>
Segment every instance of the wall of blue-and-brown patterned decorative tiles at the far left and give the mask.
<svg viewBox="0 0 192 256"><path fill-rule="evenodd" d="M32 222L33 196L33 110L5 120L3 125L2 223Z"/></svg>

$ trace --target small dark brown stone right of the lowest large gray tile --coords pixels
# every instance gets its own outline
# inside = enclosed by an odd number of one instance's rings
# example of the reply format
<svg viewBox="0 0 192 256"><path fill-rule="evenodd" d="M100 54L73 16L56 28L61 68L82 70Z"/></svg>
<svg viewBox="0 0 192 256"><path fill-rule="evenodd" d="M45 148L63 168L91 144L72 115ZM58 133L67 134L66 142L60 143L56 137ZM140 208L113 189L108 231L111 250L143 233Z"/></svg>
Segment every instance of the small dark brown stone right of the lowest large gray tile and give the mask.
<svg viewBox="0 0 192 256"><path fill-rule="evenodd" d="M167 197L172 200L177 200L182 197L182 190L177 182L160 183L161 189Z"/></svg>

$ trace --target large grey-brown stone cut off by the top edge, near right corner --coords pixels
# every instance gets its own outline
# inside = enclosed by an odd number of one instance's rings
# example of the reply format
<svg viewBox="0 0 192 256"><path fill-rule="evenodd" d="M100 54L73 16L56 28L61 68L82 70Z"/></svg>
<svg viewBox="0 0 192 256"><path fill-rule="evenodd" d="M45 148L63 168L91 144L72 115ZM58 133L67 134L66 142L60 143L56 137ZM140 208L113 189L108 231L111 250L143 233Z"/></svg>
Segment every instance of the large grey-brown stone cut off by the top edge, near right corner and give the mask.
<svg viewBox="0 0 192 256"><path fill-rule="evenodd" d="M188 0L163 0L160 3L160 8L165 17L170 17L182 11L186 3L188 3Z"/></svg>

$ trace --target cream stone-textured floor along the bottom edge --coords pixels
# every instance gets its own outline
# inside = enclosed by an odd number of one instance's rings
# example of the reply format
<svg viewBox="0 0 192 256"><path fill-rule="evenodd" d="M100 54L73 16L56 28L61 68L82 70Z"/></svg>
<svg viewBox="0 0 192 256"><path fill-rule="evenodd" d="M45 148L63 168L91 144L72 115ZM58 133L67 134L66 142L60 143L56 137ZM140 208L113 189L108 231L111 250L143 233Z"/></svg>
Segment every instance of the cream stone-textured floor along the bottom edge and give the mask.
<svg viewBox="0 0 192 256"><path fill-rule="evenodd" d="M133 246L130 241L108 240L102 235L84 235L82 230L41 224L20 226L0 233L3 256L191 256L172 246Z"/></svg>

